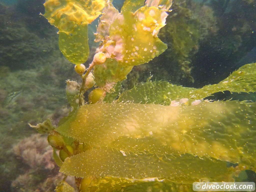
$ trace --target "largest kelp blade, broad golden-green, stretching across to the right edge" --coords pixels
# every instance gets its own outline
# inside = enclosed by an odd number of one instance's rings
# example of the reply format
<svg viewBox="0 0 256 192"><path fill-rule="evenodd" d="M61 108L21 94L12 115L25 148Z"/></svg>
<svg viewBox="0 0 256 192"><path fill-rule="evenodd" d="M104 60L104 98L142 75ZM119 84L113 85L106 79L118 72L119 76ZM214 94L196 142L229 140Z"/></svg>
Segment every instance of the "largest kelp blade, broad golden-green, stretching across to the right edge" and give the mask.
<svg viewBox="0 0 256 192"><path fill-rule="evenodd" d="M91 146L190 153L255 165L255 110L256 103L237 101L180 107L97 103L81 106L56 131ZM125 138L133 143L123 145ZM141 145L142 139L149 142Z"/></svg>

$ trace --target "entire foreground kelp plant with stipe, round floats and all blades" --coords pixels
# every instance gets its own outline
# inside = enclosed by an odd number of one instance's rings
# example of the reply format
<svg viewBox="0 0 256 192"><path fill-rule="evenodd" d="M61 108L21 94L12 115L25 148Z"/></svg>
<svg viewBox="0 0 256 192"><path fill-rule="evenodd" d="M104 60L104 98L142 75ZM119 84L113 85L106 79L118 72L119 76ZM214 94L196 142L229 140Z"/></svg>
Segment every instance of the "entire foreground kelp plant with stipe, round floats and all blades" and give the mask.
<svg viewBox="0 0 256 192"><path fill-rule="evenodd" d="M119 13L105 0L44 4L44 16L59 29L60 50L82 82L67 80L70 113L58 127L49 120L31 126L49 134L56 164L75 177L79 191L192 191L195 181L229 182L242 170L255 171L256 104L204 98L225 90L255 92L256 63L201 89L148 80L115 91L133 66L167 48L157 34L171 5L126 0ZM87 25L99 15L95 41L101 43L86 69ZM75 191L65 179L56 191Z"/></svg>

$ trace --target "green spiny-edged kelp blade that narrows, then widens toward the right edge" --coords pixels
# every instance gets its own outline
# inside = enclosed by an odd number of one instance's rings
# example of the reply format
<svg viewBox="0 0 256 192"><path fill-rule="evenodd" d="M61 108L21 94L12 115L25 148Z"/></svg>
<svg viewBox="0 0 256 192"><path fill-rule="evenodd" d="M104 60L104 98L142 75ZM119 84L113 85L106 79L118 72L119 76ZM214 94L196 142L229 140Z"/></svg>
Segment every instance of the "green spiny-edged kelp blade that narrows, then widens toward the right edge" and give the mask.
<svg viewBox="0 0 256 192"><path fill-rule="evenodd" d="M255 92L256 91L256 63L240 67L229 77L214 85L207 85L201 89L173 85L166 81L147 82L136 85L124 91L116 102L154 103L169 105L171 101L179 99L201 100L219 91Z"/></svg>

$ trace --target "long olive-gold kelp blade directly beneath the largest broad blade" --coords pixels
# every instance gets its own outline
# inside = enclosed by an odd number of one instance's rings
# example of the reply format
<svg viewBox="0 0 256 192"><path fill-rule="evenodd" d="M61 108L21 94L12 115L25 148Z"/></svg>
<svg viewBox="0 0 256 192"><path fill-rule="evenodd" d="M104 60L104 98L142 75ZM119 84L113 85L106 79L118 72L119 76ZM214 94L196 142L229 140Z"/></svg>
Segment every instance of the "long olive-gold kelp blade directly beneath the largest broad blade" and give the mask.
<svg viewBox="0 0 256 192"><path fill-rule="evenodd" d="M222 181L231 175L226 162L217 159L191 154L127 153L107 147L96 147L67 158L60 172L76 177L161 177L178 183L201 179Z"/></svg>

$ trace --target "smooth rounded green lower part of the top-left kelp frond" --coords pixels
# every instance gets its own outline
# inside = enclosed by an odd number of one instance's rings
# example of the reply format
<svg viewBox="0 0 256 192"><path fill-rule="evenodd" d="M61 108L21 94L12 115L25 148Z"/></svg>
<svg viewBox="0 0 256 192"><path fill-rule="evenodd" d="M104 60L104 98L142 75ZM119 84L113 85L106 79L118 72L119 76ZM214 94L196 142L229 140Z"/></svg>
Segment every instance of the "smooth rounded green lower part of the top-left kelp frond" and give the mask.
<svg viewBox="0 0 256 192"><path fill-rule="evenodd" d="M89 56L88 25L78 25L72 34L59 32L59 48L71 63L81 64Z"/></svg>

